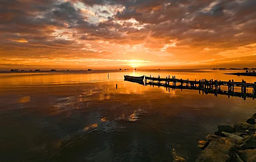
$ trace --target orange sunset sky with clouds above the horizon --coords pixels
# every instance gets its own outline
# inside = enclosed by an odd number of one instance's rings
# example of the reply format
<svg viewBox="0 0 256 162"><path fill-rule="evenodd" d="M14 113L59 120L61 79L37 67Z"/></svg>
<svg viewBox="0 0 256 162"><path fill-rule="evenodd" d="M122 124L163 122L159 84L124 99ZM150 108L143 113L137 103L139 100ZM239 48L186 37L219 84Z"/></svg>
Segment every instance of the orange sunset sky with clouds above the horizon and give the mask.
<svg viewBox="0 0 256 162"><path fill-rule="evenodd" d="M255 0L0 0L0 69L256 68Z"/></svg>

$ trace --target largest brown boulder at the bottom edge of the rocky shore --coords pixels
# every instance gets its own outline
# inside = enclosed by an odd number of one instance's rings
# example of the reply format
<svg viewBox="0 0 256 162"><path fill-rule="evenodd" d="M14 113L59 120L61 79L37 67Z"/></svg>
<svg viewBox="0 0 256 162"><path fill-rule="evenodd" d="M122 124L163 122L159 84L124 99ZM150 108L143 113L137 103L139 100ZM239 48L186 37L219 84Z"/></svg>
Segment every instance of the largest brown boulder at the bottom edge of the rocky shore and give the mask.
<svg viewBox="0 0 256 162"><path fill-rule="evenodd" d="M218 138L209 143L198 156L196 162L228 162L233 156L234 144L228 138Z"/></svg>

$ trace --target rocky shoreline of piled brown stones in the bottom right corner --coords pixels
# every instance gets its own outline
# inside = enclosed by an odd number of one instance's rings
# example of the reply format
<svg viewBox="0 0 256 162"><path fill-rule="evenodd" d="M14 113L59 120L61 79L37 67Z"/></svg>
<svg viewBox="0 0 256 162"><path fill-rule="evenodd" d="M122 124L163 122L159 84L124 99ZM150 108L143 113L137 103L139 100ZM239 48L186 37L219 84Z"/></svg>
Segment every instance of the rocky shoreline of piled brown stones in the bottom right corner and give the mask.
<svg viewBox="0 0 256 162"><path fill-rule="evenodd" d="M219 125L199 141L199 148L203 151L196 162L256 162L256 113L243 123Z"/></svg>

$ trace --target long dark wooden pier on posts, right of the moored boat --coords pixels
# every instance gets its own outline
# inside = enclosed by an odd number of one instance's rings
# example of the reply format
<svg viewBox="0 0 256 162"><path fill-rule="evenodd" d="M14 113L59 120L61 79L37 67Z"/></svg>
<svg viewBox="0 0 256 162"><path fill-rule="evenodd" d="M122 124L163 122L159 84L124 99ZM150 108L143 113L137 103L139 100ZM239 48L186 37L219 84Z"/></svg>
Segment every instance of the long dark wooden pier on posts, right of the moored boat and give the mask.
<svg viewBox="0 0 256 162"><path fill-rule="evenodd" d="M242 97L243 99L256 98L256 82L246 83L234 82L234 80L229 81L218 81L218 80L183 80L177 79L175 76L170 76L166 78L158 77L145 77L146 85L164 86L166 88L172 89L193 89L199 90L199 93L205 94L224 94L230 96ZM251 92L251 93L250 93Z"/></svg>

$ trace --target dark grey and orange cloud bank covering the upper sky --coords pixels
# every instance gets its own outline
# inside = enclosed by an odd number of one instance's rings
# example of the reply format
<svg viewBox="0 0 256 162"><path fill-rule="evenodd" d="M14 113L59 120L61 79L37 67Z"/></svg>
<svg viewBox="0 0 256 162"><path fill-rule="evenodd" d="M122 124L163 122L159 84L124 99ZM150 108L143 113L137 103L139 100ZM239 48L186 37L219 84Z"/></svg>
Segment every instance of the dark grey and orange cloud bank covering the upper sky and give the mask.
<svg viewBox="0 0 256 162"><path fill-rule="evenodd" d="M84 3L85 9L77 7L77 2ZM179 56L181 52L210 59L256 43L255 9L255 0L2 0L0 51L13 52L15 57L19 52L22 56L38 56L42 51L49 56L72 50L88 53L96 48L104 51L98 42L108 41L143 44L172 53L170 57L176 59L189 58L189 54ZM96 10L92 11L95 15L89 10ZM173 41L175 47L170 46ZM88 42L94 49L81 51L89 48ZM202 54L204 48L209 51ZM93 55L100 54L90 53Z"/></svg>

